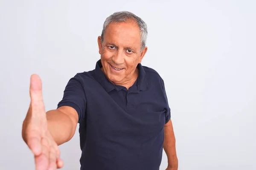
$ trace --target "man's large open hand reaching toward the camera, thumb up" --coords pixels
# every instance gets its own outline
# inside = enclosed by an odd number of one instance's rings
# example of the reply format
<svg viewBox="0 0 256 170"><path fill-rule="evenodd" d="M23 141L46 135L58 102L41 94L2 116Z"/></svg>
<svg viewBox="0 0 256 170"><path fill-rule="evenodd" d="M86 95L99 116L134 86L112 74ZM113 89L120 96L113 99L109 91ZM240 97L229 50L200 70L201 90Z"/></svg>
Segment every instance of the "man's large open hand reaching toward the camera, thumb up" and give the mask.
<svg viewBox="0 0 256 170"><path fill-rule="evenodd" d="M42 97L42 83L38 75L30 78L30 106L23 121L22 137L35 156L36 170L56 170L63 167L58 145L47 128Z"/></svg>

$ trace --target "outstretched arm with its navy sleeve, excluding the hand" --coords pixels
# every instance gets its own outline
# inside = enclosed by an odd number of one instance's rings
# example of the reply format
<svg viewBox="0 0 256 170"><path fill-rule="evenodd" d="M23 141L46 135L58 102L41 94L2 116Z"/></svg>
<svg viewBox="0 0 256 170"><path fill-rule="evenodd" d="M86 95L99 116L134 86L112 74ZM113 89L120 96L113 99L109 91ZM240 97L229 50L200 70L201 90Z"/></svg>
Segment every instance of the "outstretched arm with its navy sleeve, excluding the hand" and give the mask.
<svg viewBox="0 0 256 170"><path fill-rule="evenodd" d="M78 74L67 83L58 108L46 114L48 130L58 145L72 139L77 124L84 117L86 99L83 82L77 76Z"/></svg>

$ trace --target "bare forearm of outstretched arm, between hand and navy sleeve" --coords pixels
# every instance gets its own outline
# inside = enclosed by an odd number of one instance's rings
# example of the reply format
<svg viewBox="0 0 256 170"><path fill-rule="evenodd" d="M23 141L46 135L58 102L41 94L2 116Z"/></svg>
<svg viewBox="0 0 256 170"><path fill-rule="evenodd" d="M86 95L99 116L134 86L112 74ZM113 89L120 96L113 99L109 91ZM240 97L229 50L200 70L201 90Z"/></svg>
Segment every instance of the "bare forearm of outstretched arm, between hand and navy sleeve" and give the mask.
<svg viewBox="0 0 256 170"><path fill-rule="evenodd" d="M77 122L67 113L51 110L46 115L48 130L58 145L68 142L74 136Z"/></svg>

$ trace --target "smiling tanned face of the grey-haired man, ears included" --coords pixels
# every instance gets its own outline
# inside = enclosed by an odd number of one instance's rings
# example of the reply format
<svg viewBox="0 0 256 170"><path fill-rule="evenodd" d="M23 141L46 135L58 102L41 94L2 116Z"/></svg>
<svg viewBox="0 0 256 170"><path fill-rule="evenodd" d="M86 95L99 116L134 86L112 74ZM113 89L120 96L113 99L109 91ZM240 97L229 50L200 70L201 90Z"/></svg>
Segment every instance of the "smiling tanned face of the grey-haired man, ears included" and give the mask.
<svg viewBox="0 0 256 170"><path fill-rule="evenodd" d="M137 65L143 59L147 47L141 51L140 28L137 23L111 23L104 41L98 37L102 71L116 85L127 85L137 79Z"/></svg>

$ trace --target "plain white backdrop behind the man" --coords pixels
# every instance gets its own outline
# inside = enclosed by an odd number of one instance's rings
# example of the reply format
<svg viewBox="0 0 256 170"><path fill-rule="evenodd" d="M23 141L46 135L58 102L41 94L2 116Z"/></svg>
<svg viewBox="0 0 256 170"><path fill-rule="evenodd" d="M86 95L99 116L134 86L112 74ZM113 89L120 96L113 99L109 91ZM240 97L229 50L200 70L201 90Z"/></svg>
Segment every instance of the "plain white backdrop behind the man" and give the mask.
<svg viewBox="0 0 256 170"><path fill-rule="evenodd" d="M31 74L55 109L68 80L95 68L106 17L123 10L148 25L142 64L165 81L179 170L256 170L255 9L255 0L1 0L0 170L35 169L21 137ZM79 170L78 130L60 150L63 170Z"/></svg>

